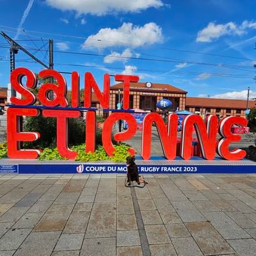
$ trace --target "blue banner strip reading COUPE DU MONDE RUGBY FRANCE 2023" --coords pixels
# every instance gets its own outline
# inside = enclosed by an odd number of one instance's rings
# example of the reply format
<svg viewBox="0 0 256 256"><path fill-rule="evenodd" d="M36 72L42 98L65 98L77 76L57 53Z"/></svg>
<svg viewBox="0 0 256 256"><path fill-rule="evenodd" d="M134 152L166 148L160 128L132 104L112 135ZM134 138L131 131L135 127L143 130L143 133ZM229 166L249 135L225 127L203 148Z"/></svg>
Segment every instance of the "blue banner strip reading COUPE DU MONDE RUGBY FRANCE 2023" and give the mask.
<svg viewBox="0 0 256 256"><path fill-rule="evenodd" d="M243 161L244 162L244 161ZM229 162L230 163L230 162ZM14 169L13 169L14 170ZM17 169L16 169L17 170ZM256 164L138 164L141 174L256 173ZM124 164L19 164L19 173L126 173ZM0 172L1 173L1 172ZM15 172L13 172L15 173ZM17 171L16 171L17 173Z"/></svg>

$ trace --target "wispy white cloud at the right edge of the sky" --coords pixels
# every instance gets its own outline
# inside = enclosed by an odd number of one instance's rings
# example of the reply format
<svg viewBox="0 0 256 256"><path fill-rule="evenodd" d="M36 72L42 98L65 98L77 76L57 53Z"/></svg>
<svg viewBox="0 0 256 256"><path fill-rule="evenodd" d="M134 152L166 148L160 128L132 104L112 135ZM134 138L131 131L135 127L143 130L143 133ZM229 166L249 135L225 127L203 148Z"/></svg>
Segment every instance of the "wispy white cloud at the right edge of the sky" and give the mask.
<svg viewBox="0 0 256 256"><path fill-rule="evenodd" d="M256 22L244 20L241 25L237 25L234 22L228 22L226 24L215 24L215 22L209 22L208 26L200 30L196 37L196 42L212 42L225 35L243 35L247 33L248 29L256 29Z"/></svg>

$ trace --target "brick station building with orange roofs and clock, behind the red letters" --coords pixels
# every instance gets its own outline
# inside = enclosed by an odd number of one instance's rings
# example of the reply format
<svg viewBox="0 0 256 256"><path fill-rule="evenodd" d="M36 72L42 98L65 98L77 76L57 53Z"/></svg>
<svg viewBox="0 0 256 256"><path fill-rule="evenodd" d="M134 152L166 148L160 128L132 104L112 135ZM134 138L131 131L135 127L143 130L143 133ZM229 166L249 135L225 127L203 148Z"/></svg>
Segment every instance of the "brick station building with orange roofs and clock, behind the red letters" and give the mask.
<svg viewBox="0 0 256 256"><path fill-rule="evenodd" d="M124 83L118 83L110 87L109 108L116 109L117 104L122 102ZM243 116L246 117L246 100L213 99L187 97L186 91L170 84L159 83L131 83L129 109L142 109L148 112L162 113L156 107L161 99L172 101L170 112L188 110L198 115ZM92 106L100 108L99 100L92 93ZM248 100L248 109L255 107L255 101ZM108 112L100 111L100 115L107 117Z"/></svg>

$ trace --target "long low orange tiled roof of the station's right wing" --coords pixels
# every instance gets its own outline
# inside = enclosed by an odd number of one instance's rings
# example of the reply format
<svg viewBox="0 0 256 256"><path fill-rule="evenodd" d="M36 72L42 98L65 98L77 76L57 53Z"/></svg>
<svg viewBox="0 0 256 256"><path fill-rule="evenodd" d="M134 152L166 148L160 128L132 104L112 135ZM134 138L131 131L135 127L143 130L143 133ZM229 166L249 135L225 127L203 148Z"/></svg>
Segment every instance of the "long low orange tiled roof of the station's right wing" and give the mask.
<svg viewBox="0 0 256 256"><path fill-rule="evenodd" d="M255 101L248 101L248 108L255 107ZM246 109L246 100L233 99L214 99L214 98L199 98L186 97L186 106L200 108L236 108Z"/></svg>

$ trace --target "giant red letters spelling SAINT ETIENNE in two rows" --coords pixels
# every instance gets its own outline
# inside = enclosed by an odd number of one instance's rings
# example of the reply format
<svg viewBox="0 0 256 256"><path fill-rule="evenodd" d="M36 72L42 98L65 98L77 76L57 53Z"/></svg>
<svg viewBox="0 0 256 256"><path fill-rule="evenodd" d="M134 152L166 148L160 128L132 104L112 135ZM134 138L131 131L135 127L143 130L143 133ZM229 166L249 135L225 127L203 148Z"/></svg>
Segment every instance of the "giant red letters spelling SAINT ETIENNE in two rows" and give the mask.
<svg viewBox="0 0 256 256"><path fill-rule="evenodd" d="M22 84L22 77L26 77L26 87ZM74 159L77 152L73 152L68 148L68 118L78 118L83 113L84 108L79 108L79 74L72 72L71 76L71 107L67 108L67 83L61 74L55 70L42 70L39 77L43 79L53 77L56 81L54 83L44 83L38 89L38 95L34 95L33 91L29 89L36 88L37 79L35 73L28 70L28 68L16 68L11 75L12 87L22 95L21 99L11 97L13 105L7 111L7 140L8 140L8 156L10 158L36 158L40 154L40 150L24 149L22 148L22 141L34 141L40 136L38 132L23 132L22 131L22 116L37 116L40 115L40 110L44 116L55 117L57 120L57 147L61 156L68 159ZM116 81L124 82L123 94L123 110L120 112L111 113L106 118L102 129L102 144L109 156L113 156L115 147L111 141L111 132L113 125L118 120L126 120L128 124L127 131L118 132L114 138L116 141L129 140L136 133L136 120L131 113L127 113L129 109L129 87L130 83L138 82L138 76L115 75ZM95 82L94 77L90 72L84 74L84 107L90 108L92 102L92 90L95 96L99 99L102 108L109 108L109 88L110 77L109 74L104 75L104 92L100 92L99 86ZM54 93L53 99L49 98L49 92ZM42 103L41 106L28 106L35 103L36 97ZM111 100L112 102L113 100ZM113 102L112 102L113 103ZM19 107L19 108L17 108ZM62 107L62 108L60 108ZM77 109L78 108L78 109ZM86 152L95 151L95 132L96 132L96 111L97 109L86 109ZM112 111L112 110L111 110ZM141 138L141 156L143 159L150 159L150 145L151 145L151 129L152 124L155 123L164 156L166 159L175 159L177 151L177 115L171 114L168 116L168 127L163 122L161 115L157 113L150 113L145 116L143 120L143 131ZM238 116L229 116L221 119L218 124L217 116L208 116L206 122L198 115L189 115L184 118L182 122L181 135L181 150L180 156L184 159L190 159L193 128L195 128L198 143L202 156L211 160L214 159L217 152L224 159L239 160L245 156L244 150L234 149L230 150L230 143L238 142L241 136L232 134L232 125L246 126L247 121ZM217 131L221 135L220 141L216 141ZM134 155L134 149L130 148L129 152Z"/></svg>

